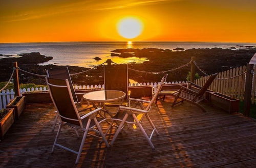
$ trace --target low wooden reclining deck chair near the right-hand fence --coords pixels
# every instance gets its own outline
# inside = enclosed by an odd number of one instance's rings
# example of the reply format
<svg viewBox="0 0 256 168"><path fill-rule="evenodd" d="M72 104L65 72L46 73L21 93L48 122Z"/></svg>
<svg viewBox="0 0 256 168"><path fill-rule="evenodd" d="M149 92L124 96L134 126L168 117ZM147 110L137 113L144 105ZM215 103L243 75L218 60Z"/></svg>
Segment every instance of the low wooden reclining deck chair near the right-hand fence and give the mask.
<svg viewBox="0 0 256 168"><path fill-rule="evenodd" d="M214 79L216 78L217 75L218 75L218 73L210 75L203 87L200 87L193 82L187 81L187 83L188 83L187 88L184 86L180 86L179 91L172 94L175 96L172 107L174 107L174 105L176 105L180 102L183 102L185 100L185 101L188 101L190 103L197 105L199 108L201 108L201 110L203 112L206 112L204 107L202 105L200 105L199 103L203 100L206 100L203 97L203 95L206 92L206 90L209 88L209 86L211 85L212 81L214 81ZM195 92L190 89L191 86L196 86L198 88L201 88L201 90L199 92ZM181 100L177 102L178 99L181 99Z"/></svg>

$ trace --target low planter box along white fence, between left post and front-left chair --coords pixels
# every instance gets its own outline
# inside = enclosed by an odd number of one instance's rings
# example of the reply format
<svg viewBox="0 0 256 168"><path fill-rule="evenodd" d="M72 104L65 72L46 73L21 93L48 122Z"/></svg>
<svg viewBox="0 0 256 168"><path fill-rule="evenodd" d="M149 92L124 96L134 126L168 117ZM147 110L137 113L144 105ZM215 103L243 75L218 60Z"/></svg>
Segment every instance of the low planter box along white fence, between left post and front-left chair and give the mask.
<svg viewBox="0 0 256 168"><path fill-rule="evenodd" d="M50 93L48 91L25 92L26 103L52 103Z"/></svg>

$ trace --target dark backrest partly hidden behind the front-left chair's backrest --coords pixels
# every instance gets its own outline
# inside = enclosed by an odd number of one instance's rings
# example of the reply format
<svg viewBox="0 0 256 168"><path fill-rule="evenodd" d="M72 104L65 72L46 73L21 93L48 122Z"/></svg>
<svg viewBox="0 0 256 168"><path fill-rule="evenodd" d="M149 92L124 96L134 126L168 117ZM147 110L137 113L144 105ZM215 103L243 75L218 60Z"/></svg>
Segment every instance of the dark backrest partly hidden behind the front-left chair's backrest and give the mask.
<svg viewBox="0 0 256 168"><path fill-rule="evenodd" d="M69 73L69 69L68 67L66 68L58 68L58 69L51 69L51 70L47 70L47 76L51 77L51 78L55 78L55 79L68 79L69 81L69 86L71 89L71 93L72 93L72 97L74 99L74 101L78 102L74 87L73 87L73 83L70 77L70 73Z"/></svg>

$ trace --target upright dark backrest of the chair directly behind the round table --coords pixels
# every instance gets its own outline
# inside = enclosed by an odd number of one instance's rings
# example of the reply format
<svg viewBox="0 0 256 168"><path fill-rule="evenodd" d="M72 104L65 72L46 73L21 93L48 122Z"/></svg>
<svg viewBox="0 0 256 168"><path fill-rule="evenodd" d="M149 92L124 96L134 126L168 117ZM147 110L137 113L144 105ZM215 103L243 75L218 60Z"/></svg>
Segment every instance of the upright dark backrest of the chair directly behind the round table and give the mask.
<svg viewBox="0 0 256 168"><path fill-rule="evenodd" d="M118 90L128 93L128 71L127 64L104 65L104 89Z"/></svg>

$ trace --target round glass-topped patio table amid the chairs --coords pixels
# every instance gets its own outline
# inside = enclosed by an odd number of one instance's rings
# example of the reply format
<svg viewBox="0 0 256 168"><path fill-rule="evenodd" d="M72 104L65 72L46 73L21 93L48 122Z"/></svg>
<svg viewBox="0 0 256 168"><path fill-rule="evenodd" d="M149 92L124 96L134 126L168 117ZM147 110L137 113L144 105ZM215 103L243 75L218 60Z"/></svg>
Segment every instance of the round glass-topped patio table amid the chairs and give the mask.
<svg viewBox="0 0 256 168"><path fill-rule="evenodd" d="M95 108L97 108L97 106L95 105L95 102L100 103L100 106L103 107L102 111L108 113L111 117L113 117L113 116L111 115L108 108L106 108L104 103L121 100L121 102L119 104L119 107L120 107L120 105L123 102L124 97L125 97L124 92L116 91L116 90L93 91L93 92L89 92L89 93L86 93L86 94L83 95L83 99L87 100L89 102L92 102ZM119 107L118 107L117 112L119 111Z"/></svg>

